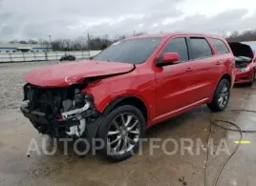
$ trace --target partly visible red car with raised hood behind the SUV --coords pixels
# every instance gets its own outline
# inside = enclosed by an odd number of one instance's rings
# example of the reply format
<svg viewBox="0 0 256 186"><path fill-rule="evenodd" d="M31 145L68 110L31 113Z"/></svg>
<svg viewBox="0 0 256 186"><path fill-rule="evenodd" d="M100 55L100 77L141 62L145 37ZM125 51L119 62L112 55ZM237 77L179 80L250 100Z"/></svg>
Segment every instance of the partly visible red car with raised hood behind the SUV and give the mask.
<svg viewBox="0 0 256 186"><path fill-rule="evenodd" d="M256 78L256 61L251 47L239 42L228 44L236 57L235 83L248 83L251 86Z"/></svg>

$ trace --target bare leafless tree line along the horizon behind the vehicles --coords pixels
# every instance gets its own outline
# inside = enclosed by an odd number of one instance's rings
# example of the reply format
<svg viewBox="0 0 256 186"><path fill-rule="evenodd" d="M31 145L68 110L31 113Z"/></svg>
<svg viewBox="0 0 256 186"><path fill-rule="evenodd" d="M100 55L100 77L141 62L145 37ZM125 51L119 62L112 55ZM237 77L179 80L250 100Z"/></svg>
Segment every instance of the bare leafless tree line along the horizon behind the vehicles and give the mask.
<svg viewBox="0 0 256 186"><path fill-rule="evenodd" d="M53 41L48 40L12 40L9 43L20 44L41 44L46 45L49 48L53 47L53 51L101 51L117 42L131 36L138 36L147 34L147 32L134 32L133 35L119 35L115 38L109 38L109 35L93 36L88 34L88 37L77 37L75 39L56 39ZM221 31L227 41L229 42L242 42L242 41L256 41L256 30L249 31L233 31L231 34L227 34L226 31Z"/></svg>

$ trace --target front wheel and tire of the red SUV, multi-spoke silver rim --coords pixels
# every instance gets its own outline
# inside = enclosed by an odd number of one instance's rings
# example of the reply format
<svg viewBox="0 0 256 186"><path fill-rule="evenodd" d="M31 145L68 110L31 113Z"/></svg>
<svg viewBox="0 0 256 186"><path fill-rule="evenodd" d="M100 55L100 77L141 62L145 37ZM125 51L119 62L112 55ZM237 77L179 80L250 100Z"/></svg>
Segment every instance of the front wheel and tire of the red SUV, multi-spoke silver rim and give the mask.
<svg viewBox="0 0 256 186"><path fill-rule="evenodd" d="M97 137L104 147L99 153L110 160L121 161L139 151L139 139L145 134L145 118L134 106L117 107L106 116Z"/></svg>

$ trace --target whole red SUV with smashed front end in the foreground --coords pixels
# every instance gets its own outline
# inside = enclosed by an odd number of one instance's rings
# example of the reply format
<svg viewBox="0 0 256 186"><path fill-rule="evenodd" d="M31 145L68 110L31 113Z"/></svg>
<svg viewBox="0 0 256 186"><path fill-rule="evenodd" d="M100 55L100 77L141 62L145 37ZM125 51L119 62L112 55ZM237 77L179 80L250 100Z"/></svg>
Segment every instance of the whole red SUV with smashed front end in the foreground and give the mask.
<svg viewBox="0 0 256 186"><path fill-rule="evenodd" d="M221 37L143 35L119 41L93 60L29 72L21 111L42 134L99 138L101 154L122 160L160 121L203 104L223 111L234 70L234 55Z"/></svg>

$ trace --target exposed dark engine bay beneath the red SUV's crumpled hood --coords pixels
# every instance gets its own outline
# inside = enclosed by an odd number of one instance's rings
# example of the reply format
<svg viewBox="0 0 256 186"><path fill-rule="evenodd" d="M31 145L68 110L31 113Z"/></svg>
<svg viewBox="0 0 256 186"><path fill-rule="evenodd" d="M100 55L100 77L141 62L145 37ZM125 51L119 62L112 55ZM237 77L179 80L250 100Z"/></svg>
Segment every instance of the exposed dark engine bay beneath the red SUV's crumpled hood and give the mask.
<svg viewBox="0 0 256 186"><path fill-rule="evenodd" d="M64 88L41 88L31 84L24 86L24 101L28 100L28 109L44 114L61 114L82 108L85 99L80 91L85 86L75 85Z"/></svg>

